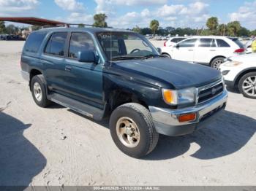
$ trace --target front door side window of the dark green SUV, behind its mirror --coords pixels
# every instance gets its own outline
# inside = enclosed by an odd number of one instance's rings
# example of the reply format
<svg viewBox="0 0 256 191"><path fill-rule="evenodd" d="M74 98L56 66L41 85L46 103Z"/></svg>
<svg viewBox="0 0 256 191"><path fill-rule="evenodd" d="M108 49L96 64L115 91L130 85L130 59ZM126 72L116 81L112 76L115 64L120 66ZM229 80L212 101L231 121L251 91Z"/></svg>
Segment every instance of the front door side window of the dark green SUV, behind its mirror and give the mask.
<svg viewBox="0 0 256 191"><path fill-rule="evenodd" d="M69 58L78 58L78 52L94 51L94 42L89 34L72 33L69 44Z"/></svg>

